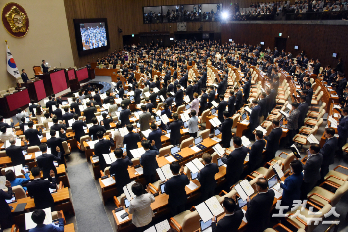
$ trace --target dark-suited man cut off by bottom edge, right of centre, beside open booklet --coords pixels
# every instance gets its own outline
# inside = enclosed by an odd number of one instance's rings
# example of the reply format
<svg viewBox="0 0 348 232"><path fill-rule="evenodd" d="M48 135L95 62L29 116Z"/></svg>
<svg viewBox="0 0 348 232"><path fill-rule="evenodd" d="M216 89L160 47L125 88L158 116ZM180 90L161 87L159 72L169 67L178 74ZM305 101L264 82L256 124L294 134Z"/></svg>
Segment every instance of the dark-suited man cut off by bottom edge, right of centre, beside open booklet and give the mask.
<svg viewBox="0 0 348 232"><path fill-rule="evenodd" d="M215 222L215 215L212 218L212 232L238 232L244 214L237 204L236 195L233 195L232 198L225 197L223 208L226 214L218 223Z"/></svg>

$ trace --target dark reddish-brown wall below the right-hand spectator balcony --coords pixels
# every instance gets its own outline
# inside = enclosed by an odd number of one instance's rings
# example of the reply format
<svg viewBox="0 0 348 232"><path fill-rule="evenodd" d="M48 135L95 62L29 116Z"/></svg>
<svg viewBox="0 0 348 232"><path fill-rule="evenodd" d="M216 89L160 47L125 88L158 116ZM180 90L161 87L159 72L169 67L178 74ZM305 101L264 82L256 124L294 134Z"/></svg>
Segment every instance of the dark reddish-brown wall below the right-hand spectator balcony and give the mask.
<svg viewBox="0 0 348 232"><path fill-rule="evenodd" d="M336 67L342 57L348 69L348 26L346 25L305 25L305 24L222 24L222 42L233 39L236 43L256 45L265 42L263 49L274 49L275 38L287 38L286 52L293 57L305 50L308 58L321 59L322 67L330 64ZM279 36L282 33L282 36ZM288 38L289 37L289 38ZM294 47L298 46L298 50ZM283 48L278 48L281 51ZM337 58L332 53L338 53Z"/></svg>

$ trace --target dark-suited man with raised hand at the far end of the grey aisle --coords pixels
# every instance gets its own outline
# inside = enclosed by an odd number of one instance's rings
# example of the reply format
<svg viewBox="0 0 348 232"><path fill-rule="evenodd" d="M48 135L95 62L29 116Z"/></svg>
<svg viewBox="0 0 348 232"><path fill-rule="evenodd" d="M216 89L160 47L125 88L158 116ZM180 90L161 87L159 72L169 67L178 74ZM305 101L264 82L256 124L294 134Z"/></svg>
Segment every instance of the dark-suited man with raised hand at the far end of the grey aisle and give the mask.
<svg viewBox="0 0 348 232"><path fill-rule="evenodd" d="M105 168L110 166L110 164L106 164L103 154L109 154L111 151L110 147L114 147L115 144L111 133L109 133L109 139L104 139L104 132L100 130L96 136L99 141L94 145L94 154L98 155L100 170L104 172Z"/></svg>

